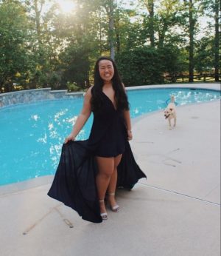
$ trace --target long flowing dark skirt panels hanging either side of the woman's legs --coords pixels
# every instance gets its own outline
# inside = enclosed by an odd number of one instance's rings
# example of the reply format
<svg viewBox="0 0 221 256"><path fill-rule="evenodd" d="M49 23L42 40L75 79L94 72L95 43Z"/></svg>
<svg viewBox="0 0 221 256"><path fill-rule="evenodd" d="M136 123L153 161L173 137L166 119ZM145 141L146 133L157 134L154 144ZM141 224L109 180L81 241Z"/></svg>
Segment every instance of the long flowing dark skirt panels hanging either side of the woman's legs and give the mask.
<svg viewBox="0 0 221 256"><path fill-rule="evenodd" d="M147 178L136 164L128 141L117 171L117 187L128 190L138 179ZM100 223L97 172L96 159L88 149L88 141L69 141L63 144L60 163L48 195L74 209L83 220Z"/></svg>

